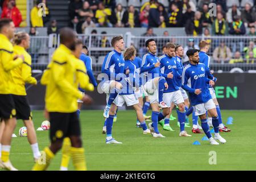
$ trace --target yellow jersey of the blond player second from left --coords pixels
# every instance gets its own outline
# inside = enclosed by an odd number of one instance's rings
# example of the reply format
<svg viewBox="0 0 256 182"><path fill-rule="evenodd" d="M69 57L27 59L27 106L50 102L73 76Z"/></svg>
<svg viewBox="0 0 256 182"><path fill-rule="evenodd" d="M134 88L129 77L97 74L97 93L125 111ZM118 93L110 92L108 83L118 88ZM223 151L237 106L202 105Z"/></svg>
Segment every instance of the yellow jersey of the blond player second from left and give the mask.
<svg viewBox="0 0 256 182"><path fill-rule="evenodd" d="M26 49L21 46L14 46L14 56L15 55L23 55L24 62L11 70L11 76L13 77L13 82L11 82L11 94L26 96L25 84L37 84L36 78L31 76L31 56L27 53Z"/></svg>

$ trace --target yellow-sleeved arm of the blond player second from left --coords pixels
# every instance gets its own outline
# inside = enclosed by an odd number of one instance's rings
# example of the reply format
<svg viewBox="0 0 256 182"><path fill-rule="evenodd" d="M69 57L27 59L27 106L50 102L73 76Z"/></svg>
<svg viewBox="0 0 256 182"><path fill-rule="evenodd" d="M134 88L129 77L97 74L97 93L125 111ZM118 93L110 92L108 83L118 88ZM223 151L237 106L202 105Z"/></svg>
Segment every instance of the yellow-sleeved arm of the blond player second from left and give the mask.
<svg viewBox="0 0 256 182"><path fill-rule="evenodd" d="M24 82L32 85L36 85L38 81L36 78L32 77L31 73L31 57L30 60L24 61L22 64L22 79Z"/></svg>

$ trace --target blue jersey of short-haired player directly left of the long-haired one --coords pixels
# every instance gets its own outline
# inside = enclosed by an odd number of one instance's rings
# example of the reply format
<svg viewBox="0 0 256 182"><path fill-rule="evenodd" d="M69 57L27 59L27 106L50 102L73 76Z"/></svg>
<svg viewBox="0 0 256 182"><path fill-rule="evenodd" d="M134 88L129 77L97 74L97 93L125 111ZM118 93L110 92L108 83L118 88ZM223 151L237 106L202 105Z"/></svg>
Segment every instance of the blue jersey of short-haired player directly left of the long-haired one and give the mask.
<svg viewBox="0 0 256 182"><path fill-rule="evenodd" d="M124 67L125 60L122 53L113 50L106 55L101 67L101 73L108 75L108 80L121 81L121 76L117 75L123 73Z"/></svg>

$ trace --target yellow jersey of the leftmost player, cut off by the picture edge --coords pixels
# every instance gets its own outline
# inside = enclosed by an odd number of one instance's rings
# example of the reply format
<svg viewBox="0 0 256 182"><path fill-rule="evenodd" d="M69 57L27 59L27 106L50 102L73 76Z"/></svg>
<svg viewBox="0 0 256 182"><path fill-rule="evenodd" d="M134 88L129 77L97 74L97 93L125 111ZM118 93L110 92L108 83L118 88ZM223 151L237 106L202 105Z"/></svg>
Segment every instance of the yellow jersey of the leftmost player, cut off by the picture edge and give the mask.
<svg viewBox="0 0 256 182"><path fill-rule="evenodd" d="M13 44L5 35L0 34L0 42L0 94L10 94L11 82L13 82L10 71L22 64L23 60L21 58L14 60Z"/></svg>

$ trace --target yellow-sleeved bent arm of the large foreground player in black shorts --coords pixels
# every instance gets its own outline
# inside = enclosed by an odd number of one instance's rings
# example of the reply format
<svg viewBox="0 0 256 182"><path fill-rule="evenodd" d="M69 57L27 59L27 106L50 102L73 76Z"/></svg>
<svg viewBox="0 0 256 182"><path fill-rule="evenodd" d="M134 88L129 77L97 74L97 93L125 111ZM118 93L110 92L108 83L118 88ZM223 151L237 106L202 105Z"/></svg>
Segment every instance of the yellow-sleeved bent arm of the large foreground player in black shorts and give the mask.
<svg viewBox="0 0 256 182"><path fill-rule="evenodd" d="M63 92L82 99L82 93L65 79L65 64L67 64L67 61L53 60L51 68L53 80Z"/></svg>

